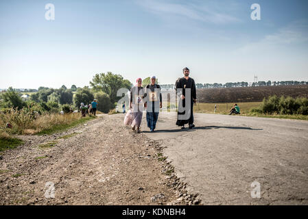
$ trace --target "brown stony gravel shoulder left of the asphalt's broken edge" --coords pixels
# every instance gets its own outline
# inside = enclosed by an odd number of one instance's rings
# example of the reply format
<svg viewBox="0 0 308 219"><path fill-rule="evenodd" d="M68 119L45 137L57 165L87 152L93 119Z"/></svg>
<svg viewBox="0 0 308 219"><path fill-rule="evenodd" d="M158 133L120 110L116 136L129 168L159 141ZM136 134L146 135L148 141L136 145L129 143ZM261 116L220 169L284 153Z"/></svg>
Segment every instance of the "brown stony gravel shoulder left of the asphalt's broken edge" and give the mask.
<svg viewBox="0 0 308 219"><path fill-rule="evenodd" d="M198 203L160 155L161 144L104 115L53 136L20 136L0 159L1 205ZM168 173L168 174L166 174ZM197 201L197 202L196 202Z"/></svg>

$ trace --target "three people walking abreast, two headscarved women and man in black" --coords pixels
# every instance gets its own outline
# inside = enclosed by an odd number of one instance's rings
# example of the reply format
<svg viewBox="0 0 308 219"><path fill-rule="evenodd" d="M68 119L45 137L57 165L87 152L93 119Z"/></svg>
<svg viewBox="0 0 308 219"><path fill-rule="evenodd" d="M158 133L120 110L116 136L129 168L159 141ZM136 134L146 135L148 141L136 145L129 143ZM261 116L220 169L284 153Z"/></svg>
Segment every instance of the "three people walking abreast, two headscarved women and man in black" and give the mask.
<svg viewBox="0 0 308 219"><path fill-rule="evenodd" d="M142 87L142 79L136 80L137 84L130 90L130 110L132 113L131 127L133 131L140 133L140 125L143 116L143 107L146 109L147 127L150 131L156 128L159 110L162 107L161 88L156 83L156 77L151 77L151 83ZM189 129L193 129L193 105L196 104L195 81L189 77L189 68L183 69L183 77L176 81L176 94L179 98L178 117L176 125L185 129L185 124L189 124Z"/></svg>

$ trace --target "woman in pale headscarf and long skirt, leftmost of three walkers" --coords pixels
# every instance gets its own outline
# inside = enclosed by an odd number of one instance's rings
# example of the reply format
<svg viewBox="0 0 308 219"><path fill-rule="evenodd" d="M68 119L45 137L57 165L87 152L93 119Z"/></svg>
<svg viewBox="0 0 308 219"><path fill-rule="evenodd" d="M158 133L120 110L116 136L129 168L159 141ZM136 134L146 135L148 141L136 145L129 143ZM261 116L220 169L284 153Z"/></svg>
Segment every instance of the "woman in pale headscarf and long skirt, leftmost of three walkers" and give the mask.
<svg viewBox="0 0 308 219"><path fill-rule="evenodd" d="M143 114L143 97L144 90L142 79L139 77L136 80L137 84L130 90L130 109L132 109L132 130L140 133L140 125Z"/></svg>

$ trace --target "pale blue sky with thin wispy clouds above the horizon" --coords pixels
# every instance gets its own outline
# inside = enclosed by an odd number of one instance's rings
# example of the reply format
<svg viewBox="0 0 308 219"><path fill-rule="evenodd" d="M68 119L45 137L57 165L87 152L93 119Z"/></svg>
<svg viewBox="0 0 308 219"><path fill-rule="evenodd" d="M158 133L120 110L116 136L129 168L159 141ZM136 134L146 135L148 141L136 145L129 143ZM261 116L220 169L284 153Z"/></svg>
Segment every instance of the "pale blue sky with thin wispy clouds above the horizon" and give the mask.
<svg viewBox="0 0 308 219"><path fill-rule="evenodd" d="M305 0L0 1L0 88L88 86L107 71L174 83L185 66L197 83L308 81L307 12Z"/></svg>

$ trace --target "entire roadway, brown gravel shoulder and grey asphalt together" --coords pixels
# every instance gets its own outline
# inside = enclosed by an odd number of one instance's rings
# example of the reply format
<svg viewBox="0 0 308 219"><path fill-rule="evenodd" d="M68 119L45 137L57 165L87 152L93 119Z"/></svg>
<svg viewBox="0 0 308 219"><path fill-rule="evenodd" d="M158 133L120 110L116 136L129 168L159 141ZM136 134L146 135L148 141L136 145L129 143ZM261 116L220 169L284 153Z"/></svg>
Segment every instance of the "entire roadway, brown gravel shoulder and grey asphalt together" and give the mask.
<svg viewBox="0 0 308 219"><path fill-rule="evenodd" d="M143 119L140 134L115 114L21 136L25 144L0 157L0 204L308 204L307 121L195 117L184 131L174 113L161 113L154 133Z"/></svg>

